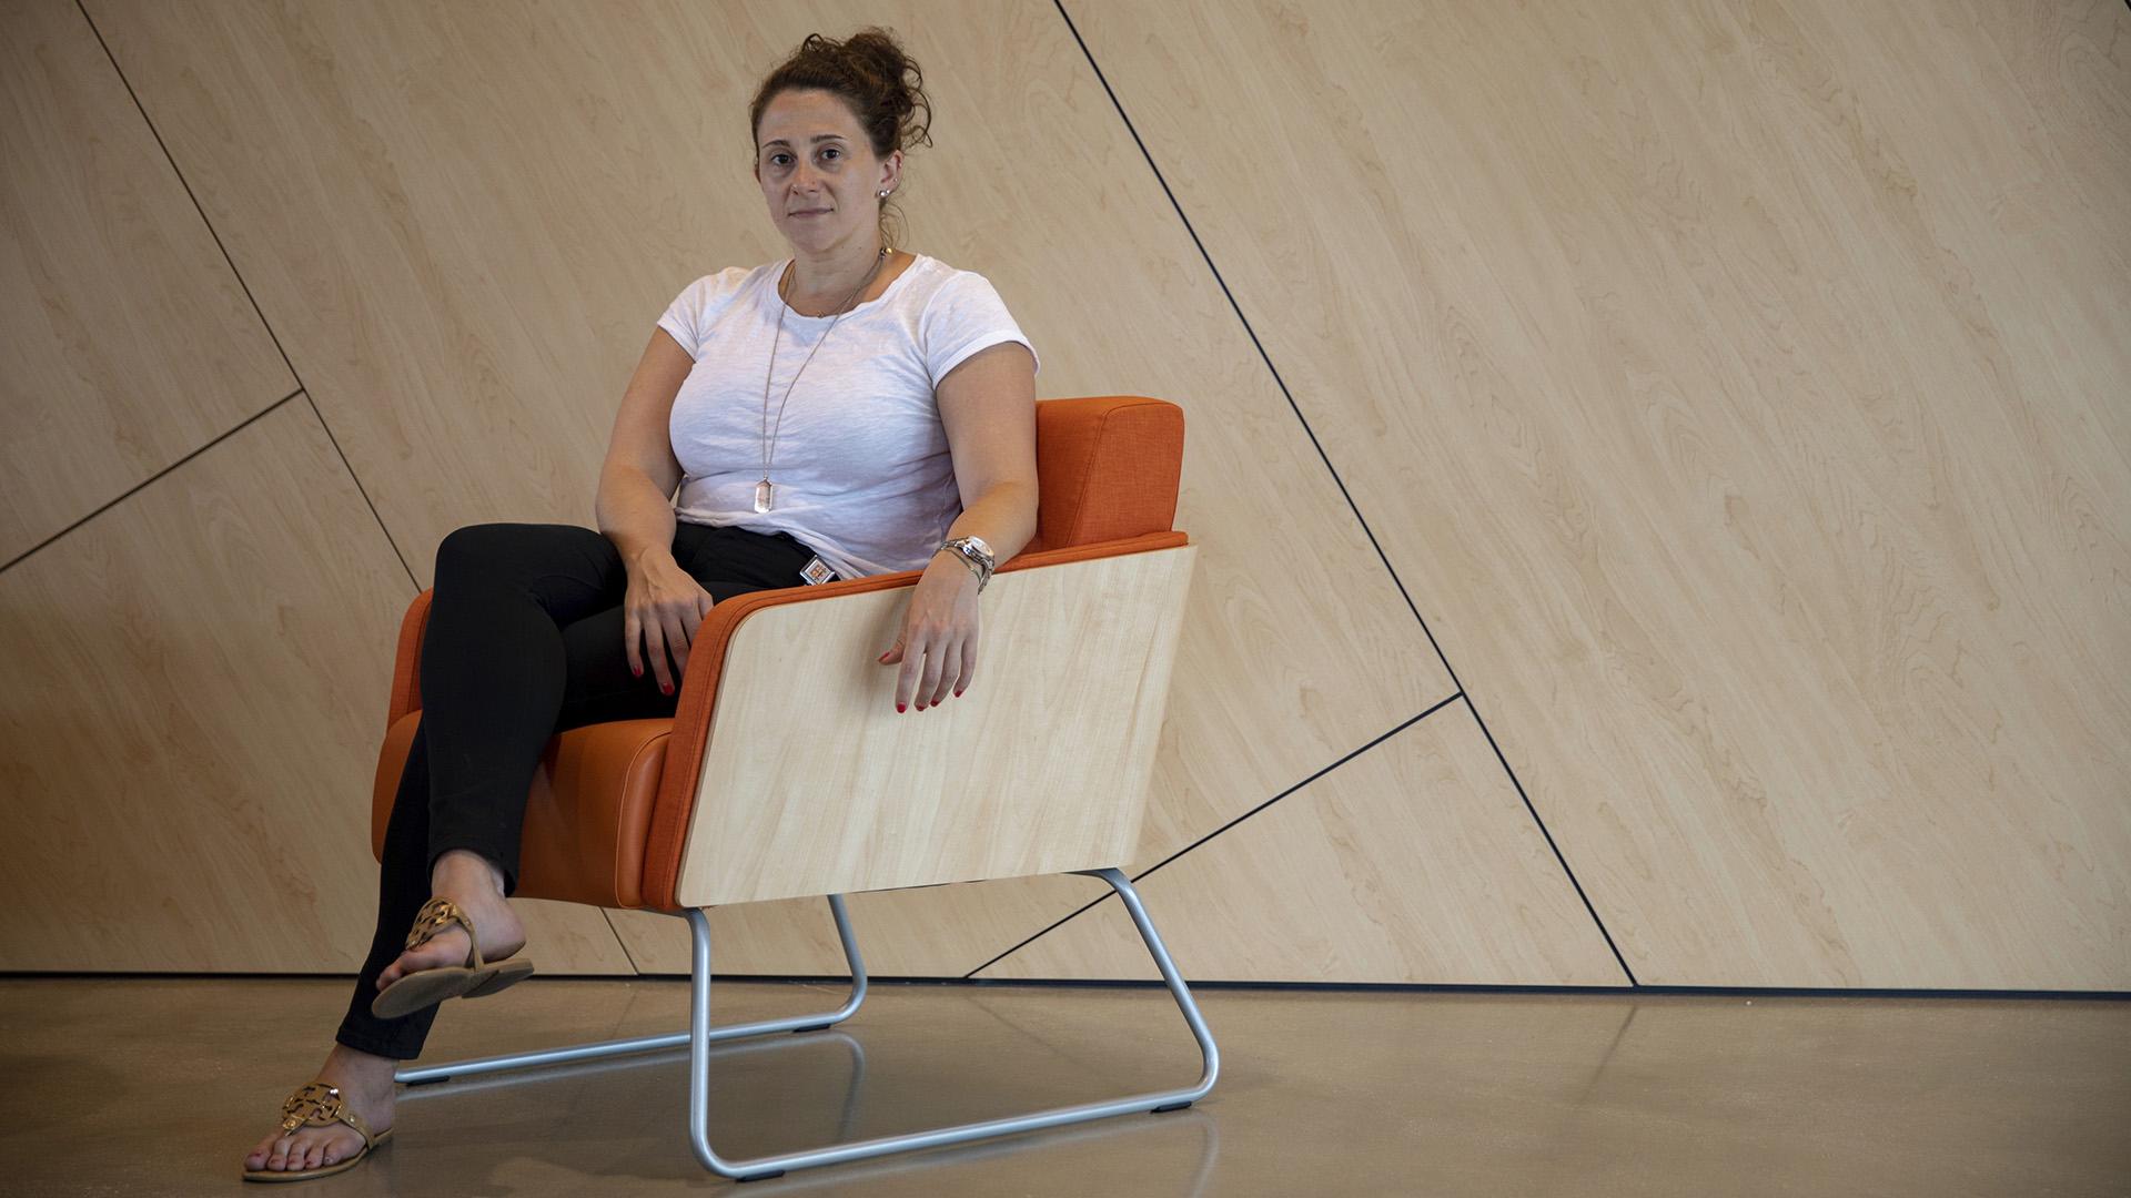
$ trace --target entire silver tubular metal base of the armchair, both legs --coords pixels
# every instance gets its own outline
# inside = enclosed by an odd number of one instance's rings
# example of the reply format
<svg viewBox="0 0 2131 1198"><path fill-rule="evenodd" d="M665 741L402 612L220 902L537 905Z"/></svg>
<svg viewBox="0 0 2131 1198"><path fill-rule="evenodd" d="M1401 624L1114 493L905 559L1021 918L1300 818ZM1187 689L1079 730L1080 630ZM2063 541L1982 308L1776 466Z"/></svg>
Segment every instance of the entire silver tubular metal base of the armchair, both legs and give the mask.
<svg viewBox="0 0 2131 1198"><path fill-rule="evenodd" d="M1112 1115L1134 1115L1140 1111L1183 1111L1191 1106L1206 1091L1213 1089L1215 1079L1221 1072L1221 1051L1213 1042L1213 1032L1206 1030L1206 1019L1200 1015L1198 1004L1191 1000L1191 989L1185 985L1183 976L1176 972L1176 961L1170 959L1168 949L1161 944L1161 936L1155 932L1155 923L1146 917L1146 908L1140 904L1138 891L1121 870L1074 870L1089 878L1102 878L1110 883L1117 897L1123 900L1125 910L1132 914L1134 927L1140 932L1140 940L1153 955L1155 966L1161 970L1161 981L1168 983L1170 995L1176 1000L1176 1008L1183 1013L1185 1023L1191 1027L1191 1036L1200 1047L1200 1079L1198 1083L1183 1089L1166 1089L1153 1094L1134 1094L1127 1098L1112 1098L1108 1102L1080 1102L1076 1106L1053 1106L1048 1111L1036 1111L1031 1115L1012 1115L1004 1119L982 1119L976 1123L955 1123L946 1128L933 1128L929 1132L906 1132L899 1136L878 1136L872 1140L840 1143L818 1149L791 1151L780 1155L765 1155L754 1160L725 1160L710 1145L710 1045L720 1040L739 1040L746 1036L767 1036L771 1032L820 1032L850 1019L859 1004L865 1002L865 961L859 955L859 940L850 932L850 914L844 910L844 895L829 895L829 910L835 914L835 934L844 942L844 959L850 961L850 998L835 1010L823 1015L795 1015L786 1019L763 1019L757 1023L735 1023L727 1027L710 1025L710 919L703 910L686 910L682 917L688 921L693 955L690 955L690 993L688 993L688 1030L673 1032L667 1036L637 1036L631 1040L603 1040L595 1045L573 1045L567 1049L543 1049L533 1053L507 1053L497 1057L477 1057L467 1062L448 1062L439 1066L407 1068L394 1074L394 1081L405 1085L439 1083L450 1079L467 1079L488 1072L505 1070L526 1070L539 1066L556 1066L567 1062L584 1062L597 1057L618 1057L629 1053L650 1053L658 1049L676 1049L688 1045L688 1147L695 1149L695 1160L703 1164L710 1172L718 1177L729 1177L735 1181L763 1181L769 1177L782 1177L795 1168L816 1168L825 1164L842 1164L850 1160L865 1160L886 1153L916 1151L942 1145L959 1145L965 1140L980 1140L989 1136L1008 1136L1016 1132L1036 1132L1042 1128L1061 1128L1068 1123L1087 1123L1091 1119L1108 1119ZM531 1079L524 1079L531 1081Z"/></svg>

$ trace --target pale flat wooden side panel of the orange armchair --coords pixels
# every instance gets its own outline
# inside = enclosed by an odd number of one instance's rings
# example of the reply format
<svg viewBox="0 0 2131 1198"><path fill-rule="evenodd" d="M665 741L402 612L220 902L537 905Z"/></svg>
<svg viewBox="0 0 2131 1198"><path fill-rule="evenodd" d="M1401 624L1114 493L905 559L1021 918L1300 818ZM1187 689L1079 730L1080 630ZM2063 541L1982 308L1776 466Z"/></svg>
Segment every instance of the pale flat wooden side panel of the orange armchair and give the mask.
<svg viewBox="0 0 2131 1198"><path fill-rule="evenodd" d="M1127 861L1198 546L999 573L985 686L893 712L904 590L733 633L676 897L714 906Z"/></svg>

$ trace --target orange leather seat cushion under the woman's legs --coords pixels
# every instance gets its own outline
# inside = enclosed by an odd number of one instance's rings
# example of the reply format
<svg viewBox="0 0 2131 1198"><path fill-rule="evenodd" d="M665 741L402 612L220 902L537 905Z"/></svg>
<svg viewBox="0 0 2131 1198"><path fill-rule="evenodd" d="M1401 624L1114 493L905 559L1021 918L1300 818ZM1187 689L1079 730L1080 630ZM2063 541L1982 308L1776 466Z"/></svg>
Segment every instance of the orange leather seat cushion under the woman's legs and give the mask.
<svg viewBox="0 0 2131 1198"><path fill-rule="evenodd" d="M394 721L377 755L371 853L379 861L386 821L420 725L420 710ZM644 906L644 844L671 738L673 721L654 718L586 725L548 740L526 795L520 897Z"/></svg>

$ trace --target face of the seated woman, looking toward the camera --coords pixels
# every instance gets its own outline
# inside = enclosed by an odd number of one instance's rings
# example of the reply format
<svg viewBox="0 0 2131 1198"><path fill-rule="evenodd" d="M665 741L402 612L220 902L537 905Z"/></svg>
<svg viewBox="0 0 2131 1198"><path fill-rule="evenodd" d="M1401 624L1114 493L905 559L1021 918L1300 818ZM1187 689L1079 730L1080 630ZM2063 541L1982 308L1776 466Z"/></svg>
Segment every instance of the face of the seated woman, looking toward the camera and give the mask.
<svg viewBox="0 0 2131 1198"><path fill-rule="evenodd" d="M880 228L880 190L895 190L904 151L886 160L831 92L778 92L754 130L754 179L769 220L795 252L820 254Z"/></svg>

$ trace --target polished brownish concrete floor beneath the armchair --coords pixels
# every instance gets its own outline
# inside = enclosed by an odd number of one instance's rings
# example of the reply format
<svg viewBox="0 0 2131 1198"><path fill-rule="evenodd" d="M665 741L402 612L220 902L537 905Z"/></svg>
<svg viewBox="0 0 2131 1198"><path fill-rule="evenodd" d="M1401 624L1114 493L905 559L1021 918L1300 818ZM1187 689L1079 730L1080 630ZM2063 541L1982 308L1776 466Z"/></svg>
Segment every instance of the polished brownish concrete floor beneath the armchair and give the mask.
<svg viewBox="0 0 2131 1198"><path fill-rule="evenodd" d="M0 1194L277 1194L243 1151L324 1053L339 981L0 981ZM686 983L533 981L448 1006L426 1059L686 1025ZM1202 1104L737 1187L865 1196L2131 1194L2131 1004L1206 991ZM718 1023L835 987L720 983ZM757 1045L757 1047L748 1047ZM863 1045L863 1047L861 1047ZM714 1059L727 1157L1185 1085L1159 989L876 985L833 1032ZM735 1187L663 1055L424 1087L394 1143L290 1194Z"/></svg>

